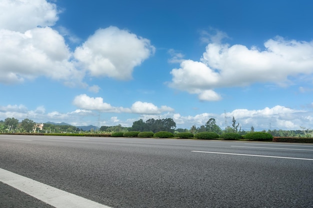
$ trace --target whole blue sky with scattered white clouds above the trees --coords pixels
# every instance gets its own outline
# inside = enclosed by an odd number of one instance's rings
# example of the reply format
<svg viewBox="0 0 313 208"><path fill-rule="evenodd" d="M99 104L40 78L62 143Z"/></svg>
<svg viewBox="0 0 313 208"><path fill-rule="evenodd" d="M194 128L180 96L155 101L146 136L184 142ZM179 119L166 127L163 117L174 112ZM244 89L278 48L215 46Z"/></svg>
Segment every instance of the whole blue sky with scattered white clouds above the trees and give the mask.
<svg viewBox="0 0 313 208"><path fill-rule="evenodd" d="M1 0L0 120L313 128L310 0Z"/></svg>

